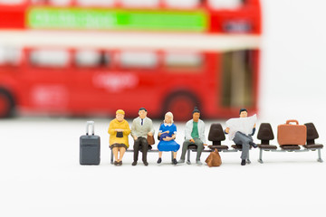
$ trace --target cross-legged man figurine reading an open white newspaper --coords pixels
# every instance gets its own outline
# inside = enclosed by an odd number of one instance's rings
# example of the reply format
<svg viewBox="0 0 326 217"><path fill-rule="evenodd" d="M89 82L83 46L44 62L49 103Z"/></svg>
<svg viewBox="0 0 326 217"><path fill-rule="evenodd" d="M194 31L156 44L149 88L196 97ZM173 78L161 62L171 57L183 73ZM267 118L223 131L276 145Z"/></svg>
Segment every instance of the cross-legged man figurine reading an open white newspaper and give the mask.
<svg viewBox="0 0 326 217"><path fill-rule="evenodd" d="M253 137L255 132L256 115L248 118L246 109L240 109L240 118L231 118L226 121L225 134L233 140L236 145L242 145L241 165L245 165L245 160L249 155L250 146L257 147Z"/></svg>

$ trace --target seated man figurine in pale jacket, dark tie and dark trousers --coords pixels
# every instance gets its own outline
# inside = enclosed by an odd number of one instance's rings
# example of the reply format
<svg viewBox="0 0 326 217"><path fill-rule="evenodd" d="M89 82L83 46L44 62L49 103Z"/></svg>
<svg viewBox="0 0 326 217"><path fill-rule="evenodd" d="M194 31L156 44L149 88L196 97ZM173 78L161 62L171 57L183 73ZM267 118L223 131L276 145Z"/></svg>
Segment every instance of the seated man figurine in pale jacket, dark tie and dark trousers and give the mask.
<svg viewBox="0 0 326 217"><path fill-rule="evenodd" d="M142 161L144 165L149 165L147 162L147 152L151 146L148 143L148 136L154 136L153 122L147 118L147 109L139 109L139 117L132 121L131 136L134 138L134 161L132 165L137 165L139 149L142 150Z"/></svg>

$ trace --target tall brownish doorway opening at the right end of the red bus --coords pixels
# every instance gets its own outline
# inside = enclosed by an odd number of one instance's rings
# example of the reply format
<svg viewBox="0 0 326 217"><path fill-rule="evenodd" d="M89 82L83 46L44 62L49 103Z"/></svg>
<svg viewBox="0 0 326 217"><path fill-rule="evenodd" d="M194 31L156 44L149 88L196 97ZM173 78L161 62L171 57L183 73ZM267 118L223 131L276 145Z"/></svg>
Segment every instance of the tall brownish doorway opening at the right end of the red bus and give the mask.
<svg viewBox="0 0 326 217"><path fill-rule="evenodd" d="M222 77L223 107L242 108L254 105L252 51L223 53Z"/></svg>

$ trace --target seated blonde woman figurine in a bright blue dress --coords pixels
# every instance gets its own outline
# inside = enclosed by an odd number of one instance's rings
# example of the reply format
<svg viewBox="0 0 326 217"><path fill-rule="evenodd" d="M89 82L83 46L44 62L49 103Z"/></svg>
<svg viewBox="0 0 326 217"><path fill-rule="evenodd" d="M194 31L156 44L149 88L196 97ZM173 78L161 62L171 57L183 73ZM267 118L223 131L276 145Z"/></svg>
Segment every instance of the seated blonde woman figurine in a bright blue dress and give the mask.
<svg viewBox="0 0 326 217"><path fill-rule="evenodd" d="M158 130L158 164L162 162L162 152L171 151L173 152L172 164L177 165L177 150L180 148L180 145L175 141L176 134L177 127L173 123L173 114L168 112Z"/></svg>

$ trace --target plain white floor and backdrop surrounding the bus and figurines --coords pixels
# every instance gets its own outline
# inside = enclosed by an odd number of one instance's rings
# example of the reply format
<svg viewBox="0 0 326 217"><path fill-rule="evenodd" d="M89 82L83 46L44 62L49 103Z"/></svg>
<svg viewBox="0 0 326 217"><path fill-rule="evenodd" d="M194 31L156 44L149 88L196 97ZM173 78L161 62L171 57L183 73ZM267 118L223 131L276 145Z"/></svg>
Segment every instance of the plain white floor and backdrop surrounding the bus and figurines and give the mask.
<svg viewBox="0 0 326 217"><path fill-rule="evenodd" d="M276 126L286 119L313 122L320 134L317 141L325 145L326 3L263 0L263 5L258 121L272 123L275 137ZM132 154L127 153L124 165L115 167L106 134L110 120L96 119L101 165L81 166L79 137L85 121L0 120L1 216L274 217L325 212L326 163L316 162L316 152L264 152L260 165L254 149L252 164L245 166L240 165L240 153L222 153L218 168L169 165L169 154L164 154L163 165L156 164L156 154L149 154L148 167L141 162L132 167ZM177 123L179 142L184 124Z"/></svg>

